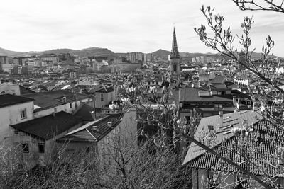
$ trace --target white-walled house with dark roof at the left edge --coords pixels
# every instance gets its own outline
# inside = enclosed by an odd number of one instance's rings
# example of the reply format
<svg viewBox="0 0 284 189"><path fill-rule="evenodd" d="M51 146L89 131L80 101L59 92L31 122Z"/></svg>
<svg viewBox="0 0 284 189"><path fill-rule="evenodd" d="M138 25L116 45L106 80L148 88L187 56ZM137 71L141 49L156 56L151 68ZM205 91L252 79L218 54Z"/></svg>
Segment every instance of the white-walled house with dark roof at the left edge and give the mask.
<svg viewBox="0 0 284 189"><path fill-rule="evenodd" d="M10 125L33 119L33 99L11 94L0 95L0 141L10 142Z"/></svg>

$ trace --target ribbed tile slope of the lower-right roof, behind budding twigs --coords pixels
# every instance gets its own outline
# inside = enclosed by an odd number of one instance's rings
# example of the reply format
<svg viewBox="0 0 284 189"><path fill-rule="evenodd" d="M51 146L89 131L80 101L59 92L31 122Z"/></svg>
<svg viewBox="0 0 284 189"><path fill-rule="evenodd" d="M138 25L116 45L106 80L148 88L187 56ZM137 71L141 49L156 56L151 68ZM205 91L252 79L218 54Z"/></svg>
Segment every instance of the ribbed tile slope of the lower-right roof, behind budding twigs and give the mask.
<svg viewBox="0 0 284 189"><path fill-rule="evenodd" d="M261 175L263 174L263 170L266 170L266 173L273 176L279 171L279 168L273 166L273 164L278 163L275 159L275 146L273 144L283 147L283 134L284 132L280 128L271 125L267 120L261 120L253 125L253 133L249 136L253 137L252 142L249 143L249 145L252 145L250 149L246 149L246 147L241 144L241 138L244 137L243 134L241 137L231 137L222 142L222 145L214 147L214 151L239 163L241 167L254 174ZM252 157L251 161L253 161L254 165L249 161L244 161L244 156L237 154L235 149L238 151L246 151L246 154ZM255 151L251 151L251 149ZM271 164L268 164L268 162L271 162ZM226 171L235 171L235 168L222 163L217 156L209 153L204 153L188 162L188 166L204 169L225 168Z"/></svg>

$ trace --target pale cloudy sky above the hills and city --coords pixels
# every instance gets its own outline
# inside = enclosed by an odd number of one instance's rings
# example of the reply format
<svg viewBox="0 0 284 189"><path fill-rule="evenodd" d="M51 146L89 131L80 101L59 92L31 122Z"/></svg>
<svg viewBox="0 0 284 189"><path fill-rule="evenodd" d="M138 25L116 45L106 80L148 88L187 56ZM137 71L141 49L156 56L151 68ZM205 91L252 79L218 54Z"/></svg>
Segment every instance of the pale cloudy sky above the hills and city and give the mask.
<svg viewBox="0 0 284 189"><path fill-rule="evenodd" d="M206 24L202 5L225 16L224 26L234 35L241 34L243 17L253 14L251 49L261 52L269 34L275 40L273 55L284 57L284 13L240 11L230 0L2 0L0 47L21 52L170 50L175 25L180 52L214 52L194 31Z"/></svg>

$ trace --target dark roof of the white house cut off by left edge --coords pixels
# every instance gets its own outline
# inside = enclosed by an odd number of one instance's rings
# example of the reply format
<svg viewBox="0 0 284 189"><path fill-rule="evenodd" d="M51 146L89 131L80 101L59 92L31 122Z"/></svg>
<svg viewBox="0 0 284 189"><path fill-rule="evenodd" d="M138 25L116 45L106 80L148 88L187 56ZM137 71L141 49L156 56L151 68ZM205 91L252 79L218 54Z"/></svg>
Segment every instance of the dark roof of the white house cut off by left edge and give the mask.
<svg viewBox="0 0 284 189"><path fill-rule="evenodd" d="M9 105L16 105L19 103L26 103L33 101L32 98L26 98L22 96L15 96L11 94L3 94L0 95L0 108L9 106Z"/></svg>

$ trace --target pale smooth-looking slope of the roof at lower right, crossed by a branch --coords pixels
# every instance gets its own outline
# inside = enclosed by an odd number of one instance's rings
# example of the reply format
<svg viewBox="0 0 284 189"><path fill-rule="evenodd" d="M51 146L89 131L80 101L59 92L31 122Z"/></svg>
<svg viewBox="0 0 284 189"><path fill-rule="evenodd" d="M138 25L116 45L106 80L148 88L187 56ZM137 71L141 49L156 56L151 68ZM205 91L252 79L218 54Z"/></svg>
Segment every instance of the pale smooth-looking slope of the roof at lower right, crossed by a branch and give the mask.
<svg viewBox="0 0 284 189"><path fill-rule="evenodd" d="M261 113L253 110L226 113L223 115L223 118L220 118L219 115L202 118L200 120L200 125L198 125L195 132L195 139L200 141L204 135L204 132L209 130L208 125L212 125L214 127L214 131L216 132L214 146L217 146L224 141L224 139L229 139L234 136L234 134L231 132L233 127L242 128L244 122L246 122L248 125L252 125L262 119L263 116ZM204 153L204 149L197 146L195 143L192 143L187 151L183 164L187 164L187 162L192 161Z"/></svg>

